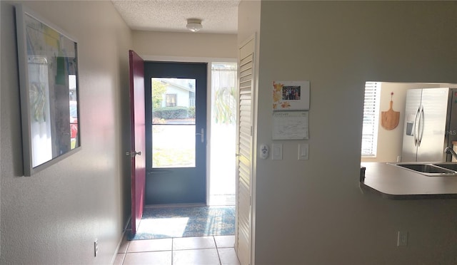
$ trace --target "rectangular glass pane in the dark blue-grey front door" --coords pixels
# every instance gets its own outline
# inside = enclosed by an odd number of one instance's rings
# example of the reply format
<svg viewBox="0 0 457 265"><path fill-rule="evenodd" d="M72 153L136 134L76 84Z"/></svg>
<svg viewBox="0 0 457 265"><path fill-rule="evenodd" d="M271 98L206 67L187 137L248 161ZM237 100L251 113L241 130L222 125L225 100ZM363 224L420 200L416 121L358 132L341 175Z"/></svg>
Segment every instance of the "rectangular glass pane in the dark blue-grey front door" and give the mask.
<svg viewBox="0 0 457 265"><path fill-rule="evenodd" d="M152 167L195 167L195 79L152 78Z"/></svg>

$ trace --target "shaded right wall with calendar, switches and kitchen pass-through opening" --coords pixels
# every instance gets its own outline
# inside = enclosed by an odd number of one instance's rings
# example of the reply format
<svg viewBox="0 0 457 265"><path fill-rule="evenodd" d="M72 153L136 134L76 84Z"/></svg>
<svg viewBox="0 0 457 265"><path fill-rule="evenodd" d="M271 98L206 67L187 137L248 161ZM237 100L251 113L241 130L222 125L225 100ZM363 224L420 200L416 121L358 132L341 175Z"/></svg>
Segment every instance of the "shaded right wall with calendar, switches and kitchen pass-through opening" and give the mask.
<svg viewBox="0 0 457 265"><path fill-rule="evenodd" d="M273 143L273 80L310 80L311 109L309 160L296 160L296 140L274 141L283 160L256 159L256 264L456 263L456 199L358 187L365 81L456 83L456 11L455 1L261 2L256 146ZM408 246L396 246L398 230Z"/></svg>

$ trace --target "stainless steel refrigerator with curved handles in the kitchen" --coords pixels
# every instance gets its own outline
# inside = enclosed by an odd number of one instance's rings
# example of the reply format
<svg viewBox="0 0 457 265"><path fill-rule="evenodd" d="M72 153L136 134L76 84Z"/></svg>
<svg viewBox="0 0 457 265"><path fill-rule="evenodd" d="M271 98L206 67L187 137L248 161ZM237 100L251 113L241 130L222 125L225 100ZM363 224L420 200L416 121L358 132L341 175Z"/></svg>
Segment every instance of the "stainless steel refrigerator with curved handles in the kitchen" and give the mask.
<svg viewBox="0 0 457 265"><path fill-rule="evenodd" d="M457 141L457 88L408 90L401 161L451 161L444 149L453 141Z"/></svg>

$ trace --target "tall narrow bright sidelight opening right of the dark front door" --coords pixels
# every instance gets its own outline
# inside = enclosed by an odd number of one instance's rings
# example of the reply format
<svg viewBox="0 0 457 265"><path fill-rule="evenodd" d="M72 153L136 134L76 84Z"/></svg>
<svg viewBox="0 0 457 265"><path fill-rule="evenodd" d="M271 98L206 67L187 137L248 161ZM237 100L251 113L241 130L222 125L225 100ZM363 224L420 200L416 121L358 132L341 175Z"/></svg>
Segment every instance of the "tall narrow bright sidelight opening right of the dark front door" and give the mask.
<svg viewBox="0 0 457 265"><path fill-rule="evenodd" d="M235 204L236 63L211 64L210 205Z"/></svg>

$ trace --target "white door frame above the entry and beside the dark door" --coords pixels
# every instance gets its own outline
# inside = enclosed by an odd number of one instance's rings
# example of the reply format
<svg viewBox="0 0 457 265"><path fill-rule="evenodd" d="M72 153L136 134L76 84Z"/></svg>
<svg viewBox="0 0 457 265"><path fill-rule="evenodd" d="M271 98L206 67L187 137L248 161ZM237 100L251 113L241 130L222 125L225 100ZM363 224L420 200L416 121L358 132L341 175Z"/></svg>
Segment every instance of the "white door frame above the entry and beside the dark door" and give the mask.
<svg viewBox="0 0 457 265"><path fill-rule="evenodd" d="M181 57L181 56L141 56L144 61L163 61L175 63L238 63L237 58ZM206 68L206 205L209 204L210 166L211 166L211 67Z"/></svg>

